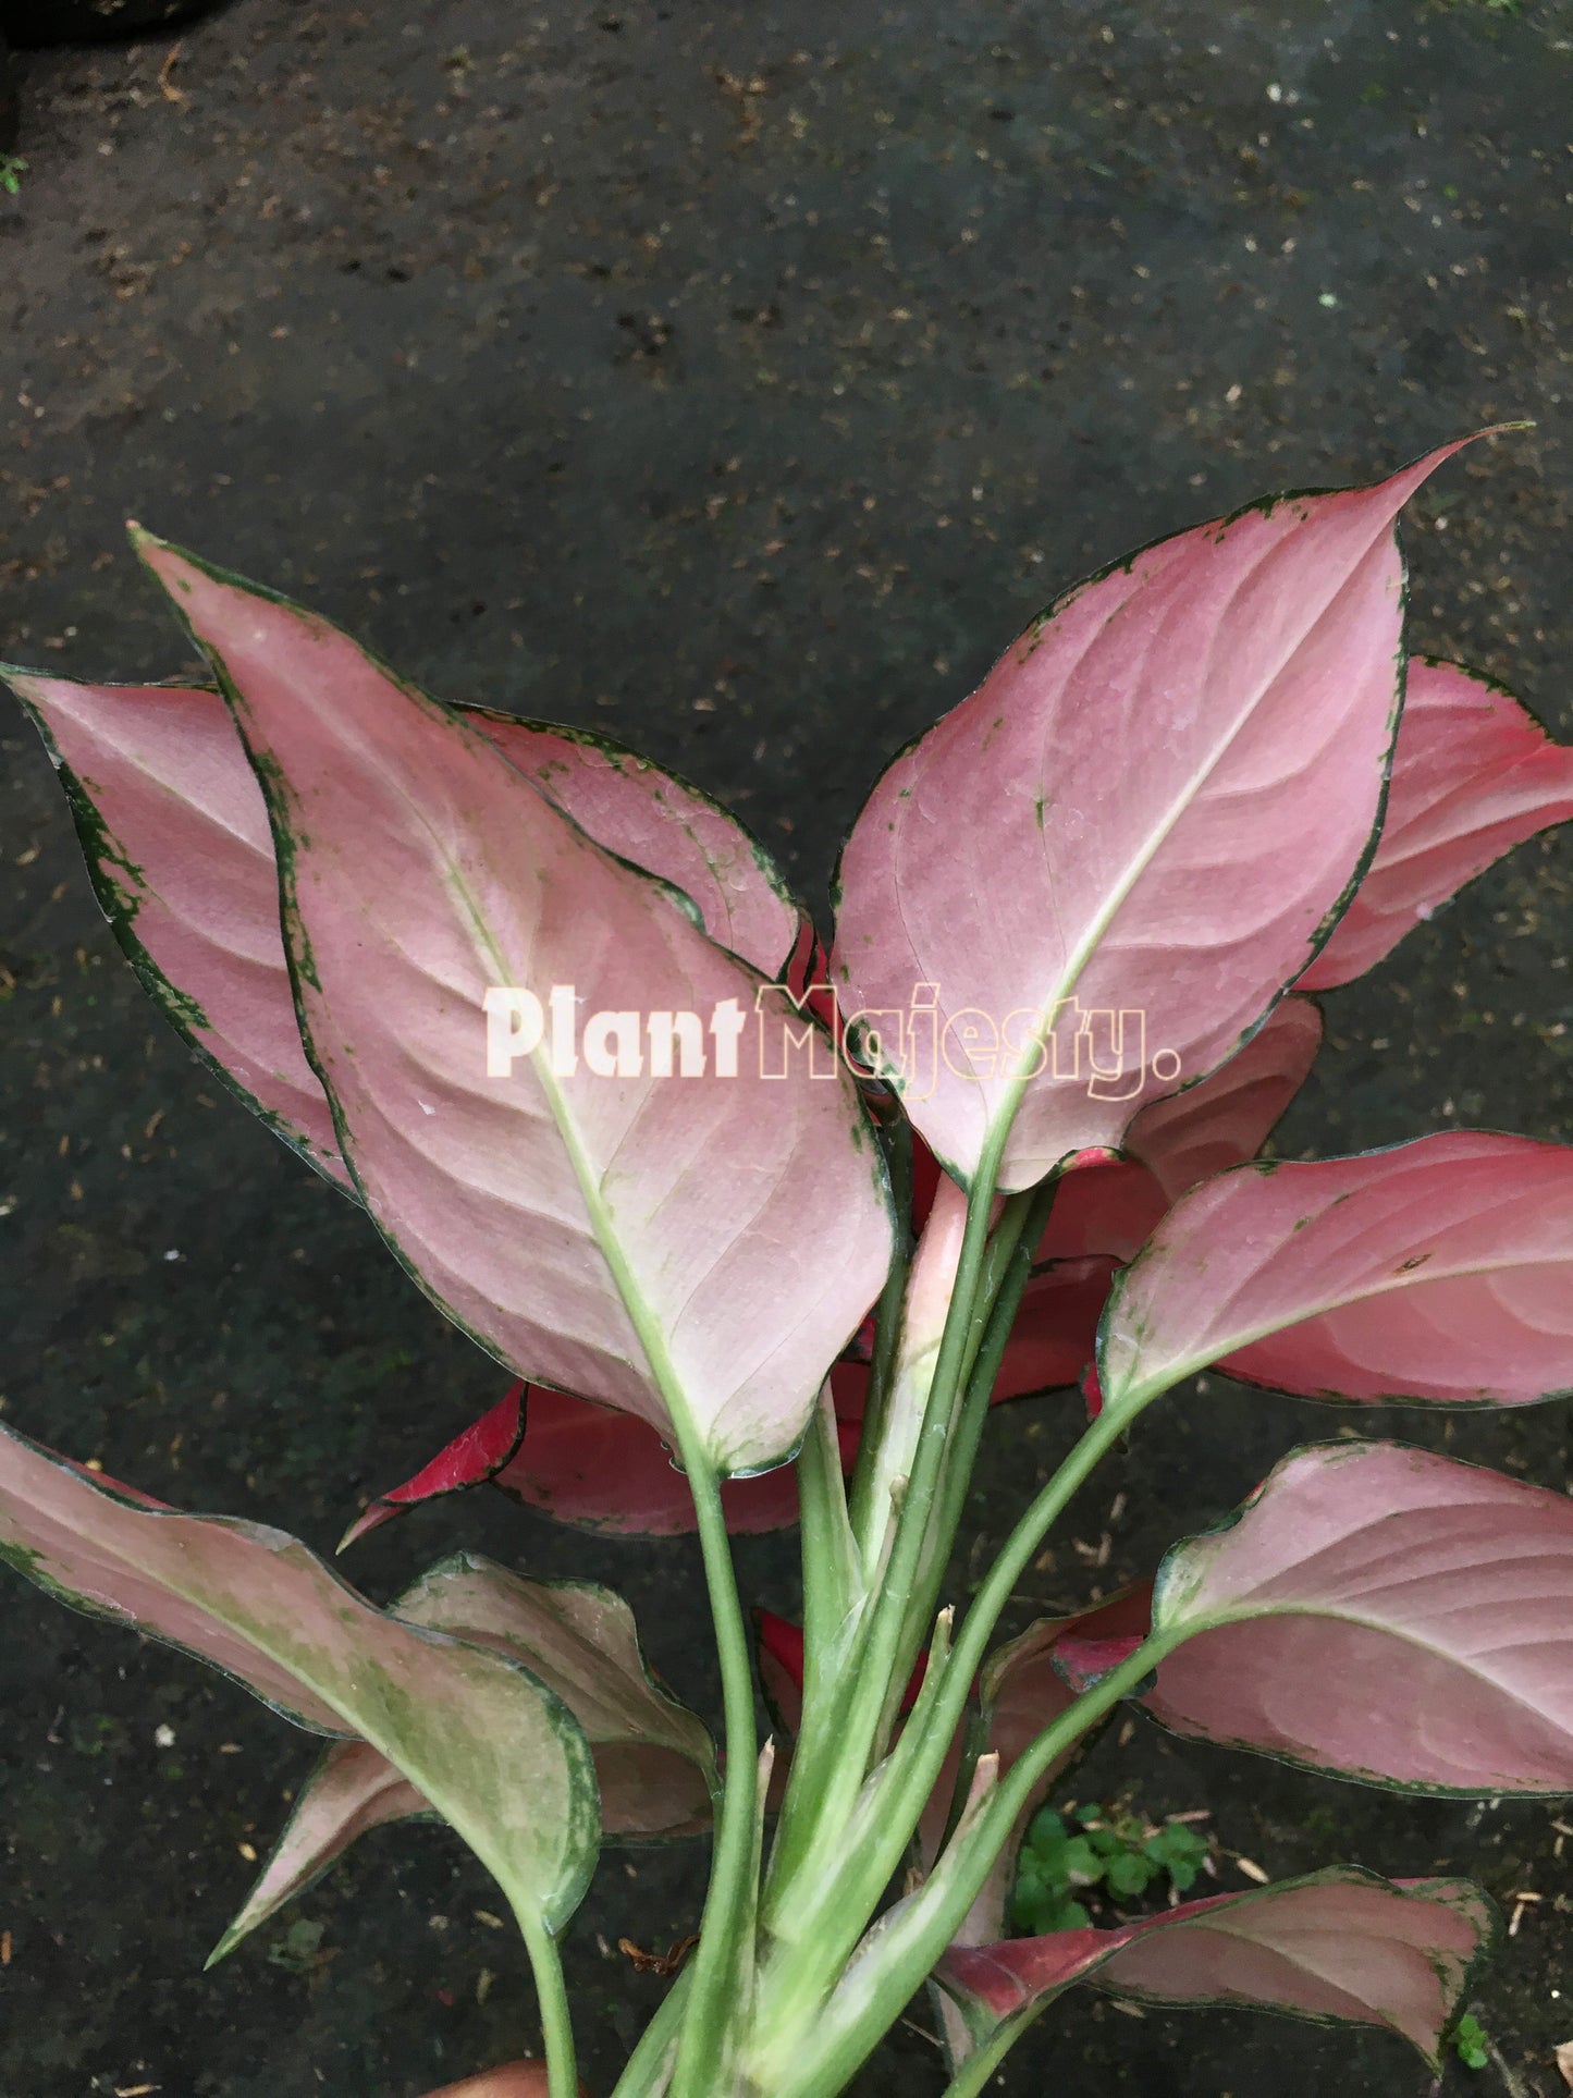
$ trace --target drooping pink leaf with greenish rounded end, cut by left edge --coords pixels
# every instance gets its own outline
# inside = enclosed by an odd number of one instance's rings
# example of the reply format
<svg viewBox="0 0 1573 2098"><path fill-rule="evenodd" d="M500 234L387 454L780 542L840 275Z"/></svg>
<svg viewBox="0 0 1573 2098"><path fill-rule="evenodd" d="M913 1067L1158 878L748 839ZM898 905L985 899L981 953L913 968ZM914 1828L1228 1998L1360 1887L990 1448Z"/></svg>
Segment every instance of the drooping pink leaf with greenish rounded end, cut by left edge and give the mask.
<svg viewBox="0 0 1573 2098"><path fill-rule="evenodd" d="M573 1915L600 1838L589 1746L516 1662L373 1609L277 1529L128 1502L2 1427L0 1555L298 1725L369 1741L516 1905Z"/></svg>

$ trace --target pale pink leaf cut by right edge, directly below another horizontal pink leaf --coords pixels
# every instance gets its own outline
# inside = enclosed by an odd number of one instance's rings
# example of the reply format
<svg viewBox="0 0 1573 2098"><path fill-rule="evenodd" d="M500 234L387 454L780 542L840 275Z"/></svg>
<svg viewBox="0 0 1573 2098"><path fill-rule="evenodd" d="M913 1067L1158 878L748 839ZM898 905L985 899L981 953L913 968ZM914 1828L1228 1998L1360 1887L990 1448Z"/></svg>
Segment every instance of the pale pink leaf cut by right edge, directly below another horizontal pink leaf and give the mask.
<svg viewBox="0 0 1573 2098"><path fill-rule="evenodd" d="M1397 1443L1286 1458L1158 1576L1147 1708L1412 1792L1573 1792L1573 1502Z"/></svg>

